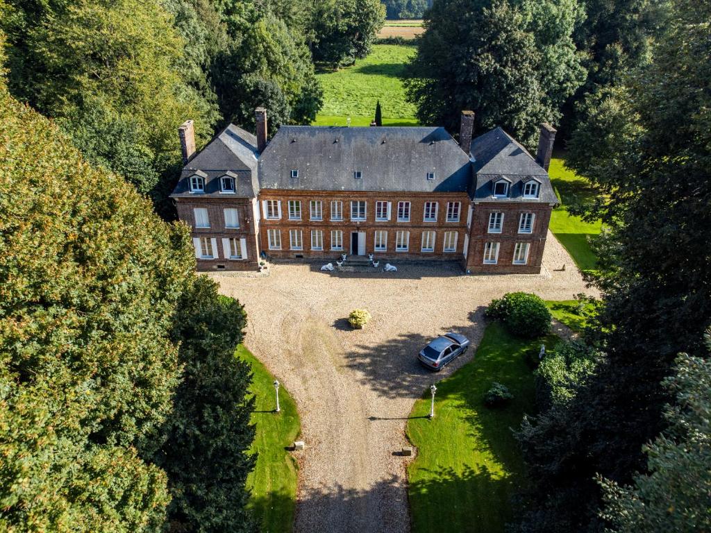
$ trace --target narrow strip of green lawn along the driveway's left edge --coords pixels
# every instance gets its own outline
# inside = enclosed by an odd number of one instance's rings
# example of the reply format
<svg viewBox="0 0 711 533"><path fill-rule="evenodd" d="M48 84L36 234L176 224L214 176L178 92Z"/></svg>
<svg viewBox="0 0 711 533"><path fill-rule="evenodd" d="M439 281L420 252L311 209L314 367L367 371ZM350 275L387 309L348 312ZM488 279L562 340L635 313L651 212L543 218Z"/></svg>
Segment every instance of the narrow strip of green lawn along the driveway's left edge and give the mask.
<svg viewBox="0 0 711 533"><path fill-rule="evenodd" d="M288 533L294 524L296 461L286 447L299 435L299 414L284 387L279 389L281 412L274 413L274 376L242 345L237 347L237 357L249 362L254 373L250 392L255 395L252 424L257 435L250 452L257 453L257 465L247 478L252 491L249 507L262 533Z"/></svg>

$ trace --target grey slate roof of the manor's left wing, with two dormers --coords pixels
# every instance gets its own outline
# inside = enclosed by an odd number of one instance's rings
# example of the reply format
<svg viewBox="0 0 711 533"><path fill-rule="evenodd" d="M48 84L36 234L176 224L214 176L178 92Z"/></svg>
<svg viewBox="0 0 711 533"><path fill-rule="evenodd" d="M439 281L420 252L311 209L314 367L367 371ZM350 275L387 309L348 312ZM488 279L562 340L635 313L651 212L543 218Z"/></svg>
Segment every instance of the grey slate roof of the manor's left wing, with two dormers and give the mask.
<svg viewBox="0 0 711 533"><path fill-rule="evenodd" d="M235 178L235 195L254 198L260 190L258 155L257 137L230 124L183 167L181 179L171 197L198 196L190 192L190 177L194 174L205 178L205 193L199 196L218 196L220 177L229 173Z"/></svg>

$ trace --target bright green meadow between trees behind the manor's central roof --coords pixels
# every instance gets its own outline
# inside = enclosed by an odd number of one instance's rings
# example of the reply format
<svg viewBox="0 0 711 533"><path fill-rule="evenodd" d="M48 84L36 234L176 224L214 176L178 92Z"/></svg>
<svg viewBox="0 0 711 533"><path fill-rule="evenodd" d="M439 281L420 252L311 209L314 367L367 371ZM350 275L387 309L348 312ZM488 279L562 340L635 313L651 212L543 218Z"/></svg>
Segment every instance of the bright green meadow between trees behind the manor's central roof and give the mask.
<svg viewBox="0 0 711 533"><path fill-rule="evenodd" d="M402 74L415 55L414 46L374 45L367 58L336 72L319 74L324 87L324 107L318 126L368 126L380 100L384 126L415 126L415 106L405 102Z"/></svg>

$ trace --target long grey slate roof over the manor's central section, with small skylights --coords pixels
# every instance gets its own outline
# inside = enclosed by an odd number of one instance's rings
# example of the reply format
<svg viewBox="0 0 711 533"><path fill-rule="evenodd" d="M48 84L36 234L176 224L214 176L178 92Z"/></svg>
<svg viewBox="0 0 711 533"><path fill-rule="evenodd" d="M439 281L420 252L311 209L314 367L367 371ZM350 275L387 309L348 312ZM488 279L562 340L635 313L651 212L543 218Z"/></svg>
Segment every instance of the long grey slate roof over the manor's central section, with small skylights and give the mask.
<svg viewBox="0 0 711 533"><path fill-rule="evenodd" d="M471 178L469 158L435 127L282 126L259 169L261 188L284 190L466 192Z"/></svg>

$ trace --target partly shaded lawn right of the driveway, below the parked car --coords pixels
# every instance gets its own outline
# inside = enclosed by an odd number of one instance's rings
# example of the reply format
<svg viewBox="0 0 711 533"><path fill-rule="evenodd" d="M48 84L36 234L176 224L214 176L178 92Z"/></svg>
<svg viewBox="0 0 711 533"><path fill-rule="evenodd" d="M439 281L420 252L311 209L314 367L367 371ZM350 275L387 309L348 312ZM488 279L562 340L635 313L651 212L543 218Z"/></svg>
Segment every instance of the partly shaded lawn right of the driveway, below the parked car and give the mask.
<svg viewBox="0 0 711 533"><path fill-rule="evenodd" d="M557 337L544 342L552 347ZM540 344L491 323L474 360L437 384L434 419L426 418L429 390L415 403L407 422L407 436L418 450L408 468L414 533L504 531L510 499L525 482L511 428L534 410L533 374L524 355ZM515 397L502 409L483 405L495 381Z"/></svg>

